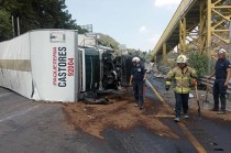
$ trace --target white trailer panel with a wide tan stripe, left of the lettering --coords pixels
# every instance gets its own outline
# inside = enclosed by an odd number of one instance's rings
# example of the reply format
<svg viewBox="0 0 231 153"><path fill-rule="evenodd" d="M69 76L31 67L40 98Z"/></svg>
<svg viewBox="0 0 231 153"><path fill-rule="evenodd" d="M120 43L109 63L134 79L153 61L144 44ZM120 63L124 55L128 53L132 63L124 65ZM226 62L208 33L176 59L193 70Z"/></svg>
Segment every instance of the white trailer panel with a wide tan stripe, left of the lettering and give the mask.
<svg viewBox="0 0 231 153"><path fill-rule="evenodd" d="M32 96L30 34L0 43L0 86Z"/></svg>

